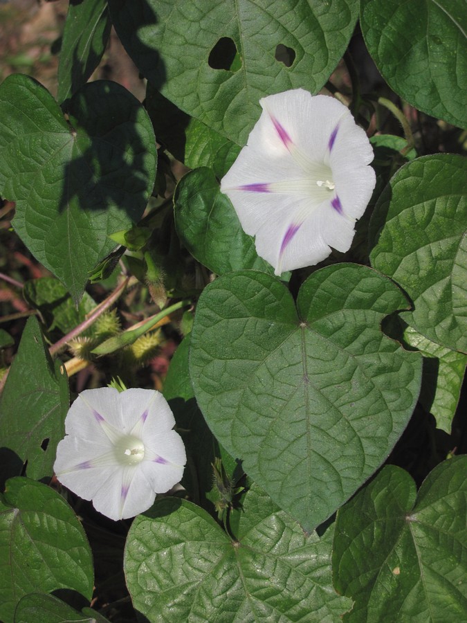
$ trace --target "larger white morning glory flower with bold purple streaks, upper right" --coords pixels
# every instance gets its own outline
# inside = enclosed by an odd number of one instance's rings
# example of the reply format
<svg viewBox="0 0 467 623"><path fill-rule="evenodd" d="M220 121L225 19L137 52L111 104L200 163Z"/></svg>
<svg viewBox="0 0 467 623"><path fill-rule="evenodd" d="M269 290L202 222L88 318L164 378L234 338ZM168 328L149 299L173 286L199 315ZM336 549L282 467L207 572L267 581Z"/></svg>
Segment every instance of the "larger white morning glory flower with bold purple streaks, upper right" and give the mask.
<svg viewBox="0 0 467 623"><path fill-rule="evenodd" d="M221 182L275 274L348 251L376 183L373 150L338 100L294 89L263 112Z"/></svg>

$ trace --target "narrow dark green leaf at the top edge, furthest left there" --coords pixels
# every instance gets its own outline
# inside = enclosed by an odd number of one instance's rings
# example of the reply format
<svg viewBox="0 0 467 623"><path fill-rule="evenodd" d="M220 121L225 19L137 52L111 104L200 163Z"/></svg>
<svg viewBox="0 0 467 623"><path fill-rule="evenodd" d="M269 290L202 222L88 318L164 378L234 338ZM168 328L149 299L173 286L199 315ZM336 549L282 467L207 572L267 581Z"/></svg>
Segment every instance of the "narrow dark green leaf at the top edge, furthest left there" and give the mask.
<svg viewBox="0 0 467 623"><path fill-rule="evenodd" d="M59 102L76 93L98 66L109 40L110 29L107 0L69 4L58 64Z"/></svg>

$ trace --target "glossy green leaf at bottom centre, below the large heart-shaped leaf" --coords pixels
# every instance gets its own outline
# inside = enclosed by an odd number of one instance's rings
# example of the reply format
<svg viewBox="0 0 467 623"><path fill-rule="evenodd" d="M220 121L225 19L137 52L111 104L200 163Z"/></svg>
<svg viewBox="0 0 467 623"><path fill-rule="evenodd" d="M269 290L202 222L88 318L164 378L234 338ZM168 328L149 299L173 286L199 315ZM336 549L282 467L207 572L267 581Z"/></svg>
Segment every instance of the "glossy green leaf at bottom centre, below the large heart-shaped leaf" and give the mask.
<svg viewBox="0 0 467 623"><path fill-rule="evenodd" d="M165 498L125 548L135 608L150 622L336 622L351 606L331 584L331 545L250 489L235 541L203 509Z"/></svg>

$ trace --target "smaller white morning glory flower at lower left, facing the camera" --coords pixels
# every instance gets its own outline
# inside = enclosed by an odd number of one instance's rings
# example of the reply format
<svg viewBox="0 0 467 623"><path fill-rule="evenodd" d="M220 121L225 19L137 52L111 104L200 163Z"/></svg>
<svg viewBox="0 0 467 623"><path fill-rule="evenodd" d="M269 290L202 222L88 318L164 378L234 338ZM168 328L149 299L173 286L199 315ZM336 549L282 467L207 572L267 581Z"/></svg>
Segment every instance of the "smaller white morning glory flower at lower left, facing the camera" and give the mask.
<svg viewBox="0 0 467 623"><path fill-rule="evenodd" d="M174 424L156 390L85 390L66 415L55 475L103 515L134 517L181 480L186 454Z"/></svg>

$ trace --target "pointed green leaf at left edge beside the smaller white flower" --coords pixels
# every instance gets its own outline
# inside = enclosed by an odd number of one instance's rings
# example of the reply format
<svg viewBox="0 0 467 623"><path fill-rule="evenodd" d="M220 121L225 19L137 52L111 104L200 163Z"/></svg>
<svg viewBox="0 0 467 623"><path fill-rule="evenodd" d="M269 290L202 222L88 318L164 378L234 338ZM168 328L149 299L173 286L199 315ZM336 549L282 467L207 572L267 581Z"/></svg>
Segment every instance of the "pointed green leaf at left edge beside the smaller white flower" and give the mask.
<svg viewBox="0 0 467 623"><path fill-rule="evenodd" d="M25 462L30 478L51 478L69 406L64 365L52 362L37 319L29 318L1 396L1 484Z"/></svg>

